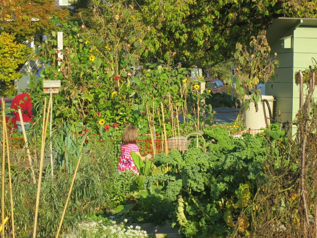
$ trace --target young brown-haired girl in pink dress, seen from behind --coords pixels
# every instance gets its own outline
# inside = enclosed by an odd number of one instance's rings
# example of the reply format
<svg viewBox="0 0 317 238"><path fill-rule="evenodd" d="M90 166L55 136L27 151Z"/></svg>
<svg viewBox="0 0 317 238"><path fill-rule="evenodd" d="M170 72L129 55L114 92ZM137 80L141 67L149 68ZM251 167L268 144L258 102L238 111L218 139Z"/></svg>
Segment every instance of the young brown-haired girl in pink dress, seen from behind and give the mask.
<svg viewBox="0 0 317 238"><path fill-rule="evenodd" d="M152 155L148 154L146 156L141 156L139 152L139 147L136 145L137 139L139 136L139 131L134 126L127 126L124 129L122 135L122 143L121 143L121 156L118 164L118 171L124 171L130 169L135 171L136 174L139 174L137 167L134 165L133 159L131 158L130 152L134 151L137 155L141 157L143 161L145 158L152 158Z"/></svg>

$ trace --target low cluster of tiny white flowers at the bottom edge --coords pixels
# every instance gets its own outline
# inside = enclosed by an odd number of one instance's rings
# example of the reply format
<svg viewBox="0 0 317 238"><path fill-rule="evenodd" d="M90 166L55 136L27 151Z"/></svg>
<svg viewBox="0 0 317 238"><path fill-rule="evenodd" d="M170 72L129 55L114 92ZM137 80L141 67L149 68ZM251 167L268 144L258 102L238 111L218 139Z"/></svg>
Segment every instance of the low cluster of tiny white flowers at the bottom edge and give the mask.
<svg viewBox="0 0 317 238"><path fill-rule="evenodd" d="M124 223L128 220L125 219ZM103 225L102 221L99 222L86 222L81 225L81 228L86 231L85 237L87 238L147 238L146 231L141 230L141 227L133 226L127 227L123 222L116 224L112 221L112 225ZM88 235L87 235L88 234ZM81 238L81 236L76 236Z"/></svg>

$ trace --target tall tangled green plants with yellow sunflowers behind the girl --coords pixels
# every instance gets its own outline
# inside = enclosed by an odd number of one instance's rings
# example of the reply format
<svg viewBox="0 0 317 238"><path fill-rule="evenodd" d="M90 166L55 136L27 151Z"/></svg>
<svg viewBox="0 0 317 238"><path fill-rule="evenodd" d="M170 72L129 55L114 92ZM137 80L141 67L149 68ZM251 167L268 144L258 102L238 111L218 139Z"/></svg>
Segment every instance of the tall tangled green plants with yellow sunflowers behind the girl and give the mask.
<svg viewBox="0 0 317 238"><path fill-rule="evenodd" d="M171 117L175 117L169 109L170 102L173 102L174 110L177 107L179 114L186 117L184 124L196 127L203 124L204 117L201 116L198 122L196 111L197 103L209 96L197 89L204 80L199 77L190 79L190 69L171 66L161 60L146 63L138 69L141 62L135 42L141 44L142 28L133 20L130 10L117 5L117 12L113 12L107 4L103 7L115 14L115 19L120 12L120 19L107 22L108 17L96 16L94 21L100 25L98 33L93 34L77 23L61 24L66 45L60 65L55 31L40 49L41 60L46 66L39 82L31 85L34 102L41 100L43 79L61 80L61 93L53 96L54 120L58 124L67 121L76 126L81 123L84 128L91 128L90 132L99 134L107 130L104 126L113 123L120 127L133 124L143 133L147 131L147 114L150 114L150 118L154 117L156 132L160 133L161 102L168 136L171 134ZM56 18L52 20L57 21ZM122 25L123 22L126 24ZM98 36L100 32L107 33L101 37ZM115 39L119 38L116 43ZM101 119L106 122L102 127ZM109 135L109 132L104 134Z"/></svg>

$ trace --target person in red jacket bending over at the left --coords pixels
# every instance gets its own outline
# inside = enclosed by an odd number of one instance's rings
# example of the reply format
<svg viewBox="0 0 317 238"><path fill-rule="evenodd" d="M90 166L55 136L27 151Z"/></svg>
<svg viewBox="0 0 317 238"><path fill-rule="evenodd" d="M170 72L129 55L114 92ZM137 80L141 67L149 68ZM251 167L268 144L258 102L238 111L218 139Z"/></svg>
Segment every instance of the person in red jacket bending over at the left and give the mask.
<svg viewBox="0 0 317 238"><path fill-rule="evenodd" d="M17 95L11 103L11 108L14 109L13 113L16 117L16 126L19 132L22 132L22 123L24 124L25 130L28 130L30 127L30 122L33 118L33 114L31 111L32 99L30 98L30 95L28 93ZM23 121L20 120L18 109L21 109Z"/></svg>

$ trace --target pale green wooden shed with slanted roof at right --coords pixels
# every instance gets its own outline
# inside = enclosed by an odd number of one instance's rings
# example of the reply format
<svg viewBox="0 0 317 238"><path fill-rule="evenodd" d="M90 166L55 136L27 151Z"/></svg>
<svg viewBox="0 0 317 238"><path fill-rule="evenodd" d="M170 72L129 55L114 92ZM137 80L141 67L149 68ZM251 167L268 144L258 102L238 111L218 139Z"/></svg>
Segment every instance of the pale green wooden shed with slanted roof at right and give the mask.
<svg viewBox="0 0 317 238"><path fill-rule="evenodd" d="M277 120L291 122L299 109L295 72L313 65L312 58L317 60L317 19L280 17L267 29L266 36L272 56L277 53L279 68L275 70L276 79L266 83L265 94L276 100L273 114Z"/></svg>

